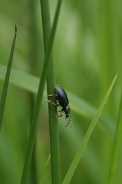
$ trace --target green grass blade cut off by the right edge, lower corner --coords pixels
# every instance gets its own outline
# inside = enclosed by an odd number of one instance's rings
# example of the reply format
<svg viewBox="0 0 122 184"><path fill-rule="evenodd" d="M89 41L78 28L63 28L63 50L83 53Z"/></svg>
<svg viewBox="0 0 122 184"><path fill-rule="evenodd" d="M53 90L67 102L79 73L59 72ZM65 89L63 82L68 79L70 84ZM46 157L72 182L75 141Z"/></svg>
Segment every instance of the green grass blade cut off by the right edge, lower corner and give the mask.
<svg viewBox="0 0 122 184"><path fill-rule="evenodd" d="M116 128L115 139L114 139L113 155L112 155L108 184L116 183L115 175L116 175L117 166L119 162L121 145L122 145L122 96L121 96L118 119L117 119L117 128Z"/></svg>

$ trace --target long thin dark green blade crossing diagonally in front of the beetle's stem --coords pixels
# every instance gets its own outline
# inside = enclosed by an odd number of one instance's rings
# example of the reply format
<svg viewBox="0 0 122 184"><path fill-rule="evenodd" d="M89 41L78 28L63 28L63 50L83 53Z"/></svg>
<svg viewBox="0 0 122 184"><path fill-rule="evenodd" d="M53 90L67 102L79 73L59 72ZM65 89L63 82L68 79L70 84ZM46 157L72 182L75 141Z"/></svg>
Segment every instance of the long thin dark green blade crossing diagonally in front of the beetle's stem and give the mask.
<svg viewBox="0 0 122 184"><path fill-rule="evenodd" d="M61 1L59 0L58 5L57 5L57 10L59 9L59 5L61 5L60 2ZM31 163L31 157L32 157L36 132L37 132L37 126L38 126L38 122L39 122L39 115L40 115L40 110L41 110L43 91L44 91L45 81L46 81L46 77L47 77L47 73L48 73L48 69L49 69L49 65L50 65L50 59L51 59L51 53L52 53L52 47L53 47L53 42L54 42L54 38L55 38L57 23L58 23L58 17L55 16L53 26L52 26L52 30L51 30L51 33L50 33L49 42L48 42L49 44L48 44L48 47L47 47L46 57L45 57L45 60L44 60L42 75L41 75L41 78L40 78L40 83L39 83L39 88L38 88L38 93L37 93L33 118L32 118L32 125L31 125L31 130L30 130L29 143L28 143L28 146L27 146L25 163L24 163L24 168L23 168L23 173L22 173L22 178L21 178L21 184L26 184L27 183L27 176L28 176L30 163Z"/></svg>

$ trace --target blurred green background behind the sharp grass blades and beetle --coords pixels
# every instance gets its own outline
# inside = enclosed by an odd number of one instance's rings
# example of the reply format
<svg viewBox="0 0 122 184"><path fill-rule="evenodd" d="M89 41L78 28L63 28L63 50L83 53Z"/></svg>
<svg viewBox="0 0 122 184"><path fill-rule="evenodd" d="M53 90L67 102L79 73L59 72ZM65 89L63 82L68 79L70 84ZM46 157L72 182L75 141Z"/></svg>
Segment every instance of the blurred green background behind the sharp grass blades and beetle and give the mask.
<svg viewBox="0 0 122 184"><path fill-rule="evenodd" d="M50 0L52 20L56 4L56 0ZM65 117L59 119L62 179L90 125L95 108L99 107L113 77L118 74L118 81L104 109L105 116L96 126L71 184L107 183L122 82L121 10L122 2L116 0L66 0L62 3L53 48L56 83L73 94L69 96L71 107L77 107L76 98L79 103L80 100L87 103L86 109L83 109L82 103L80 107L86 116L71 108L72 128L64 127L67 123ZM5 66L8 63L15 24L18 34L13 68L40 77L44 61L40 2L0 1L0 64ZM0 81L0 93L2 85L3 81ZM39 184L50 153L45 100L46 96L42 104L29 184ZM9 85L0 134L1 184L20 183L34 101L35 94ZM87 111L89 108L93 110L92 115ZM109 124L104 126L104 122ZM119 163L116 177L118 184L122 179L121 155ZM50 164L42 183L51 183Z"/></svg>

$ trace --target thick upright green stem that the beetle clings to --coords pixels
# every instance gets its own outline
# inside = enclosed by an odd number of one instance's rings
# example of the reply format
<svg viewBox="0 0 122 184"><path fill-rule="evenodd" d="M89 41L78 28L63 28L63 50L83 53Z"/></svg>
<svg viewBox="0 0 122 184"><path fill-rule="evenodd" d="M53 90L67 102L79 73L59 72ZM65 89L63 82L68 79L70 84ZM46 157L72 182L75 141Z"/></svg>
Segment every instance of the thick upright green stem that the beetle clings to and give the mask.
<svg viewBox="0 0 122 184"><path fill-rule="evenodd" d="M57 19L60 13L61 2L62 2L61 0L58 1L57 11L55 13L55 17ZM40 0L40 3L41 3L41 14L42 14L44 49L45 49L45 55L46 55L48 38L51 31L50 10L49 10L49 3L47 0ZM57 24L56 20L54 23ZM55 34L55 31L53 31L53 33ZM47 93L54 94L55 74L54 74L52 57L50 62L51 63L50 63L48 76L47 76ZM61 174L60 174L58 122L54 118L57 114L57 108L55 106L48 104L48 110L49 110L49 131L50 131L50 149L51 149L51 177L52 177L52 183L58 184L58 183L61 183Z"/></svg>

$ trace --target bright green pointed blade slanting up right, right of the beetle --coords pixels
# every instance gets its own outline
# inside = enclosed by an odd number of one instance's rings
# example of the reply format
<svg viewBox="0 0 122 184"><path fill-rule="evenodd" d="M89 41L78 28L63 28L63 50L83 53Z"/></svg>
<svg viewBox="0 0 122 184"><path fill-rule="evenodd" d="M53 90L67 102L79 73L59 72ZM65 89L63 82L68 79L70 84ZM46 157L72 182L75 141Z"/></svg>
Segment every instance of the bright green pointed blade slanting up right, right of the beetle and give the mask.
<svg viewBox="0 0 122 184"><path fill-rule="evenodd" d="M73 174L74 174L74 172L76 170L76 167L77 167L77 165L78 165L78 163L79 163L79 161L81 159L81 156L82 156L82 154L83 154L83 152L84 152L84 150L85 150L85 148L86 148L86 146L88 144L89 138L90 138L90 136L91 136L91 134L92 134L92 132L93 132L93 130L95 128L95 125L96 125L96 123L97 123L97 121L98 121L98 119L99 119L99 117L100 117L100 115L102 113L102 110L103 110L103 108L104 108L104 106L105 106L105 104L107 102L107 99L108 99L108 97L110 95L110 92L111 92L113 86L114 86L116 78L117 78L117 76L114 77L114 79L113 79L113 81L112 81L112 83L111 83L107 93L105 94L105 97L104 97L104 99L103 99L103 101L102 101L102 103L101 103L101 105L100 105L100 107L99 107L99 109L98 109L94 119L92 120L92 122L91 122L91 124L89 126L89 129L88 129L88 131L87 131L83 141L81 142L81 144L80 144L80 146L78 148L78 151L76 152L76 155L75 155L75 157L74 157L74 159L73 159L73 161L71 163L71 166L70 166L70 168L69 168L69 170L68 170L68 172L67 172L67 174L66 174L66 176L64 178L63 184L69 184L70 183L70 181L71 181L71 179L73 177Z"/></svg>

